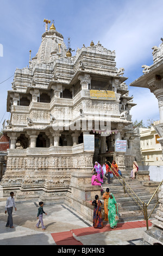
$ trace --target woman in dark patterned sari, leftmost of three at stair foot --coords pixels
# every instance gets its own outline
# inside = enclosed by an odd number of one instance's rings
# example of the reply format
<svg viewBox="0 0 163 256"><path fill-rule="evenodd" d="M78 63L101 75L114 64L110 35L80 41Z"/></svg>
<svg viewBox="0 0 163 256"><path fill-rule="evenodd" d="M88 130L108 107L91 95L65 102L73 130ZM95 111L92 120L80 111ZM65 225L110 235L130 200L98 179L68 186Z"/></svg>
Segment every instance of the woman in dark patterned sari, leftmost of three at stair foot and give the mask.
<svg viewBox="0 0 163 256"><path fill-rule="evenodd" d="M95 200L93 200L92 205L95 205L93 210L93 227L94 228L103 228L103 220L102 220L102 202L99 200L98 195L95 196Z"/></svg>

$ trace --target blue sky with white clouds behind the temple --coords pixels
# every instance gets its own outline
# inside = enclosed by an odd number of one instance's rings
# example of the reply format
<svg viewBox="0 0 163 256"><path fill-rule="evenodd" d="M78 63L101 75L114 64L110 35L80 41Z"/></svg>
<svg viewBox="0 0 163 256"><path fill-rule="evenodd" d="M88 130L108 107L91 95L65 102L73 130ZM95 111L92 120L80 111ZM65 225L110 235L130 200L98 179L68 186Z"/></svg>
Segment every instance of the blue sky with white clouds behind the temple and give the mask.
<svg viewBox="0 0 163 256"><path fill-rule="evenodd" d="M89 46L98 41L116 51L117 68L124 68L129 95L137 106L131 109L133 120L159 120L158 100L149 89L129 84L143 75L141 66L152 65L152 47L163 37L162 0L28 0L1 1L0 46L0 129L6 112L7 90L11 89L16 68L24 68L37 53L45 32L43 19L54 20L58 32L71 38L71 48Z"/></svg>

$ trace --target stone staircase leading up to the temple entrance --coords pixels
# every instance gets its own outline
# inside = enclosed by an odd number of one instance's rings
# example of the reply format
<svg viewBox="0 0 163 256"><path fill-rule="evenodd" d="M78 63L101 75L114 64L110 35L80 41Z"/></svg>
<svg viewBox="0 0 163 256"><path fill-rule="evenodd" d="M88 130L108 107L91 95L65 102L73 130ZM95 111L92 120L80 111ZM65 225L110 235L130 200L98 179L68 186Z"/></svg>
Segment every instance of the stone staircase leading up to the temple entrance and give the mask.
<svg viewBox="0 0 163 256"><path fill-rule="evenodd" d="M125 181L130 186L130 188L135 192L135 194L142 200L142 202L145 202L145 203L149 202L153 194L149 192L148 188L143 186L143 181L130 179L130 170L125 170L122 174L122 177L125 179ZM127 191L126 193L124 193L123 186L118 181L118 179L114 177L110 180L110 184L107 184L106 182L108 182L108 180L104 176L103 192L105 192L106 188L109 187L109 190L110 190L109 192L114 194L117 205L118 205L118 215L120 218L120 222L144 220L143 210L135 202L135 200L131 196L129 196ZM100 199L102 199L102 194ZM134 198L136 198L133 192L131 192L131 194L133 194ZM152 202L148 206L148 209L147 209L148 216L149 214L151 214L151 211L154 209L156 202L157 201L155 196L152 199ZM143 208L142 203L139 202L139 204ZM155 208L150 219L154 218L158 207L159 207L159 204Z"/></svg>

